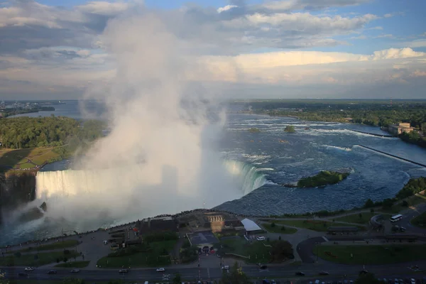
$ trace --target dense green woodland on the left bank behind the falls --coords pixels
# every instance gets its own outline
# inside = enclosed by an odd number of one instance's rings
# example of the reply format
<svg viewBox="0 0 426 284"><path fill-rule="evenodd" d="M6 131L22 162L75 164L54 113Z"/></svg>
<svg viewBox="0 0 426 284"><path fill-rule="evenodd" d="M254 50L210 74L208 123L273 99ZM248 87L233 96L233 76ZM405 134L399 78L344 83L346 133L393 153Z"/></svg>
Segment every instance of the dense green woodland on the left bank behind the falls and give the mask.
<svg viewBox="0 0 426 284"><path fill-rule="evenodd" d="M102 121L89 120L81 124L64 116L0 119L0 141L3 148L11 149L65 144L73 148L84 141L101 137L104 126Z"/></svg>

